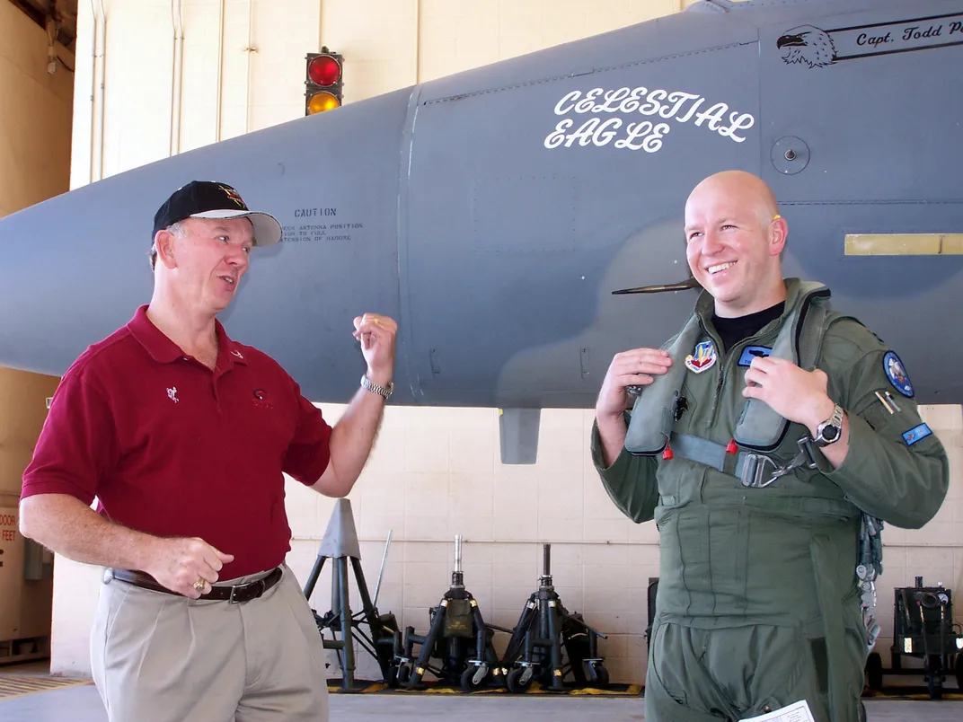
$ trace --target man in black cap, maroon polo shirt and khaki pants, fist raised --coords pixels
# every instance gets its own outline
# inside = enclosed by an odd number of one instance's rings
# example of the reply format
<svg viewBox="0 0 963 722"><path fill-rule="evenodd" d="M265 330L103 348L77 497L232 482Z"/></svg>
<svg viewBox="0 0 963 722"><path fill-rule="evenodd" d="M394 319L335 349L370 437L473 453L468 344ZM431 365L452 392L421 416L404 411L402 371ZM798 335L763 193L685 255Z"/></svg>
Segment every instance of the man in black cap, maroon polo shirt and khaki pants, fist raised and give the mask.
<svg viewBox="0 0 963 722"><path fill-rule="evenodd" d="M280 236L230 186L173 193L150 303L67 370L24 473L23 534L106 568L91 663L112 722L327 719L321 636L284 563L283 474L351 491L393 389L397 324L354 319L367 371L332 428L216 318L251 249Z"/></svg>

